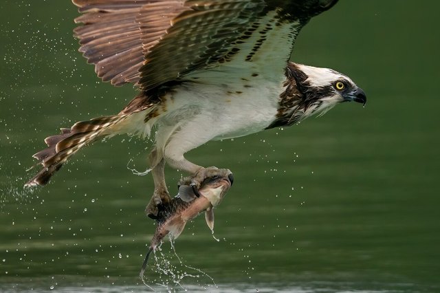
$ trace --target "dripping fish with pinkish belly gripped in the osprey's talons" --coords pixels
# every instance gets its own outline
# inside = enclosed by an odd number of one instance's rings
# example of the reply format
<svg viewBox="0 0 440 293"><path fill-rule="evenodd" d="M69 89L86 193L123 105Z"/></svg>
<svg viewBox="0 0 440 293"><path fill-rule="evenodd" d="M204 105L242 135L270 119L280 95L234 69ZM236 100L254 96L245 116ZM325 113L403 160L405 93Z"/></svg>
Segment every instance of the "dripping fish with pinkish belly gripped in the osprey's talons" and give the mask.
<svg viewBox="0 0 440 293"><path fill-rule="evenodd" d="M168 204L160 206L156 219L157 228L139 274L142 281L144 281L144 272L151 252L156 250L166 235L170 236L171 241L177 239L187 221L205 212L206 224L212 235L214 234L214 208L220 204L233 182L232 173L228 173L224 176L215 175L206 178L198 189L192 184L180 185L176 197Z"/></svg>

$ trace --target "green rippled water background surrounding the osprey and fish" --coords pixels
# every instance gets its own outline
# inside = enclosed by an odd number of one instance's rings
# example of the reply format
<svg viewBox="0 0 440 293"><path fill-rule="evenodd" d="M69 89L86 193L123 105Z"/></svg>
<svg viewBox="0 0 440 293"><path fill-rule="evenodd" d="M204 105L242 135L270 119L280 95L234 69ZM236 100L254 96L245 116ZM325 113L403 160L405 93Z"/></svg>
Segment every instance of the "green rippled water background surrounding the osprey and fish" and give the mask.
<svg viewBox="0 0 440 293"><path fill-rule="evenodd" d="M188 154L235 183L162 252L206 292L440 292L438 1L340 1L301 32L293 60L337 69L366 91L289 129ZM0 291L130 292L155 229L151 142L91 146L35 193L31 155L77 120L120 111L135 90L100 83L72 37L70 1L0 3ZM170 190L180 174L167 170ZM159 261L163 261L159 258ZM173 278L151 263L147 283ZM205 274L185 267L197 268ZM178 279L178 278L177 278ZM206 287L206 289L205 289Z"/></svg>

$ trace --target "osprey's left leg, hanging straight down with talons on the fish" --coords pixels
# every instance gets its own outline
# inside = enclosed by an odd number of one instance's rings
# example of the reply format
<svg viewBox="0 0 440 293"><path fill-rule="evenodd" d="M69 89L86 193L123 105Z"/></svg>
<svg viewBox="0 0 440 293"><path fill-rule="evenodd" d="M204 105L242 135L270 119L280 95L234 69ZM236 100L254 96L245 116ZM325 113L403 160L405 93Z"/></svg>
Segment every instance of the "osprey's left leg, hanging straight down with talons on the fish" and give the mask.
<svg viewBox="0 0 440 293"><path fill-rule="evenodd" d="M170 194L165 184L165 160L162 158L159 163L155 163L156 150L153 150L150 154L150 162L154 166L151 171L154 181L154 193L150 199L150 202L145 208L145 213L151 219L157 219L157 213L159 213L159 206L162 204L168 204L171 201Z"/></svg>

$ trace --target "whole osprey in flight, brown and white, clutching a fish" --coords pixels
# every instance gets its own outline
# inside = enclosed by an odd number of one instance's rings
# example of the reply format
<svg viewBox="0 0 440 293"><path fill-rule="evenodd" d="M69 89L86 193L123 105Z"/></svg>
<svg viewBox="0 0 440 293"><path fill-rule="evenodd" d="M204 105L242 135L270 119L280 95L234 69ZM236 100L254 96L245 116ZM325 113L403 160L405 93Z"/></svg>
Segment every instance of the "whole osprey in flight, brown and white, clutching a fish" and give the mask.
<svg viewBox="0 0 440 293"><path fill-rule="evenodd" d="M164 166L188 173L197 194L204 168L184 154L210 141L289 126L340 102L365 104L364 91L332 69L289 62L301 28L338 0L73 0L83 23L80 52L104 81L140 93L113 116L76 122L34 155L44 185L81 147L116 134L148 137L155 184L146 207L170 202Z"/></svg>

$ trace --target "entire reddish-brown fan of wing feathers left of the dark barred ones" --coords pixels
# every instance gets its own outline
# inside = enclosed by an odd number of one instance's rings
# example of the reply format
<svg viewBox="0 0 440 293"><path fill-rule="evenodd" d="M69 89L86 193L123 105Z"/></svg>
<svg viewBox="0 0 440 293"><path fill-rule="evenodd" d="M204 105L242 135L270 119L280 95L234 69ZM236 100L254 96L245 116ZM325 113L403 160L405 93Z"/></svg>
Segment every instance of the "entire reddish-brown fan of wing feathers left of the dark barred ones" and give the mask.
<svg viewBox="0 0 440 293"><path fill-rule="evenodd" d="M188 9L184 1L73 0L83 15L74 30L80 52L95 72L112 85L137 83L144 55L170 27L170 21Z"/></svg>

